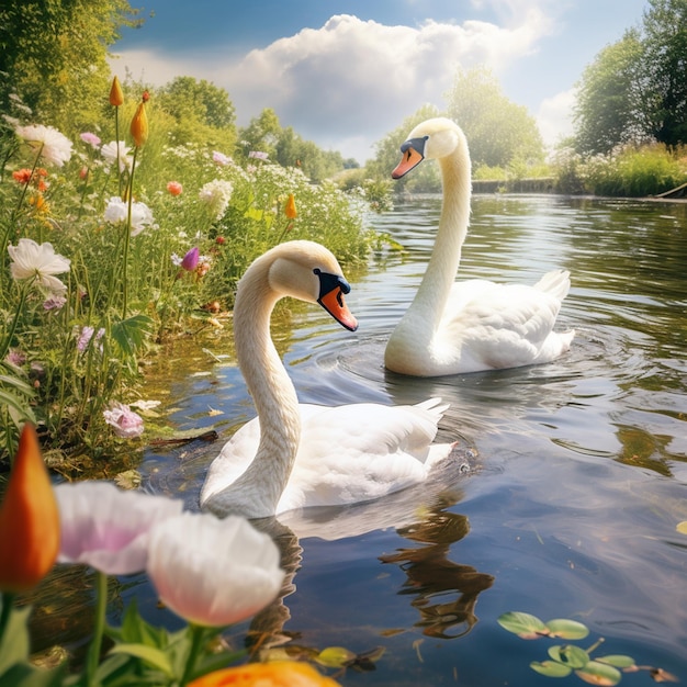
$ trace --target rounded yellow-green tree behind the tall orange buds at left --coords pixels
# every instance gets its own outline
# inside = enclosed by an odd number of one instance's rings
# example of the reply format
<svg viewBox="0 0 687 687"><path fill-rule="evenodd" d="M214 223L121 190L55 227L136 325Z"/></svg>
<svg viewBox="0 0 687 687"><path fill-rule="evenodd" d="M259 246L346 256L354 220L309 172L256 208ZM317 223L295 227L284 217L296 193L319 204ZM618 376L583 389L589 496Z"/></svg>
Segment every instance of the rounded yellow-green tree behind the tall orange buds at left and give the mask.
<svg viewBox="0 0 687 687"><path fill-rule="evenodd" d="M211 147L232 150L236 143L236 112L229 94L213 83L193 77L177 77L159 90L160 108L177 124L176 143L204 142Z"/></svg>

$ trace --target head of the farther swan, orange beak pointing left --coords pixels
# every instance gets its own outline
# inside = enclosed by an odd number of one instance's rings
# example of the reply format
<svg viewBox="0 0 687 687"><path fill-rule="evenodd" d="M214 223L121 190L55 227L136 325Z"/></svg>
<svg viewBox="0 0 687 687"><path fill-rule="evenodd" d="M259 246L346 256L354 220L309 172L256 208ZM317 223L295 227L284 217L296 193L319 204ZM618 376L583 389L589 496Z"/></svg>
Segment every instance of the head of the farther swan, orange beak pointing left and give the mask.
<svg viewBox="0 0 687 687"><path fill-rule="evenodd" d="M424 159L432 160L453 155L458 149L468 151L465 136L460 126L446 117L435 117L418 124L401 146L403 158L392 172L401 179Z"/></svg>

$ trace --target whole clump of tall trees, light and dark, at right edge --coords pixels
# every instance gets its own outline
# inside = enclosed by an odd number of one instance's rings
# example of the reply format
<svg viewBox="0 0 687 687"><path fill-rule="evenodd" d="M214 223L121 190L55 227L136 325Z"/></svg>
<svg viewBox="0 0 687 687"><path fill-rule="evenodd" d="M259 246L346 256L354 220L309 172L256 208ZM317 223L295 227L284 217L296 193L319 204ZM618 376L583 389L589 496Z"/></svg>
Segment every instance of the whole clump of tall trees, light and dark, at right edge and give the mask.
<svg viewBox="0 0 687 687"><path fill-rule="evenodd" d="M575 149L687 143L687 0L650 0L642 25L604 48L577 83Z"/></svg>

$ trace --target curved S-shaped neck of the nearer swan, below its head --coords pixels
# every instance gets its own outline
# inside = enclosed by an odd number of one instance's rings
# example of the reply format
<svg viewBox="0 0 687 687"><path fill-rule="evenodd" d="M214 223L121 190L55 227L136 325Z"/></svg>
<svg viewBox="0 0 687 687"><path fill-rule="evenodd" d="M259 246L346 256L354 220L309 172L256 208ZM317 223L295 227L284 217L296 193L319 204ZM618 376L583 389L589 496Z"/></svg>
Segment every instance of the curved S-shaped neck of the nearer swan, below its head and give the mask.
<svg viewBox="0 0 687 687"><path fill-rule="evenodd" d="M237 510L247 517L274 514L301 437L295 388L270 336L270 316L279 295L267 286L268 271L269 264L254 264L240 281L234 305L236 356L260 418L256 457L229 487Z"/></svg>

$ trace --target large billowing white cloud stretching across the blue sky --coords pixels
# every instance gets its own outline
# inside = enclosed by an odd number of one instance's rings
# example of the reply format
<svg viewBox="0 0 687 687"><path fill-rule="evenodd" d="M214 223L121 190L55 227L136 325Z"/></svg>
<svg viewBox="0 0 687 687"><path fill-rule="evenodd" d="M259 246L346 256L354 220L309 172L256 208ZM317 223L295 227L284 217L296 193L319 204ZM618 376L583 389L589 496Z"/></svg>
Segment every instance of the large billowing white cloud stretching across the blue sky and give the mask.
<svg viewBox="0 0 687 687"><path fill-rule="evenodd" d="M226 88L239 124L273 108L283 126L324 148L361 161L371 144L426 102L439 108L458 66L489 66L496 74L537 48L551 23L536 7L509 27L488 22L417 27L387 26L351 15L331 16L320 29L304 29L254 49L239 61L213 55L122 53L113 70L161 85L193 76ZM348 149L341 147L348 144Z"/></svg>

